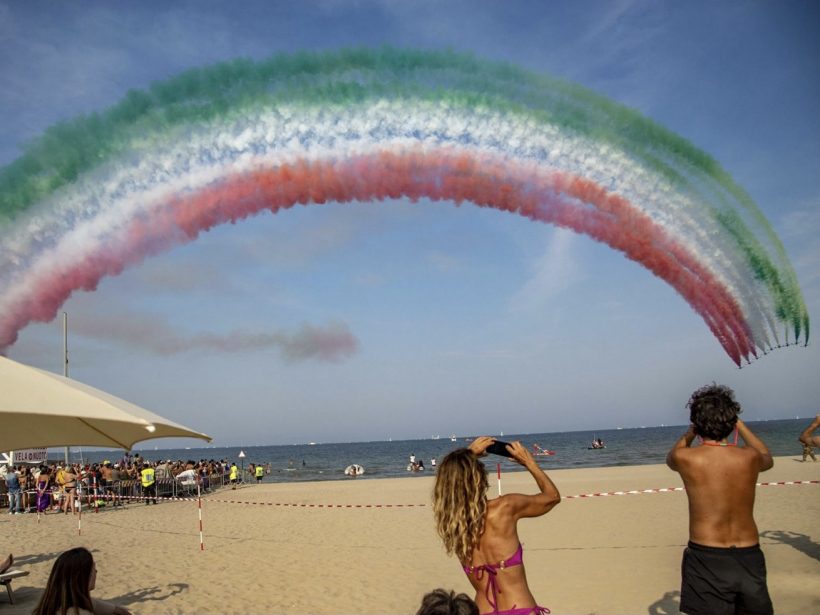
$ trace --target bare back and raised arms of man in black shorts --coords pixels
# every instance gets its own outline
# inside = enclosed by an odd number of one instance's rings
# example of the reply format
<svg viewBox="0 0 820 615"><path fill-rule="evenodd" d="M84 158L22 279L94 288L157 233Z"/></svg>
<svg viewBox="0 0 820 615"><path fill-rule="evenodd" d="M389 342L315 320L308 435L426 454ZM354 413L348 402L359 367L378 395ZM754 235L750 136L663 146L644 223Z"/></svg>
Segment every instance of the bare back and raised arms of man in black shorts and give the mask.
<svg viewBox="0 0 820 615"><path fill-rule="evenodd" d="M772 467L766 446L738 419L746 446L705 439L690 448L692 428L667 456L680 473L689 498L689 540L712 547L746 547L759 542L753 516L758 474Z"/></svg>

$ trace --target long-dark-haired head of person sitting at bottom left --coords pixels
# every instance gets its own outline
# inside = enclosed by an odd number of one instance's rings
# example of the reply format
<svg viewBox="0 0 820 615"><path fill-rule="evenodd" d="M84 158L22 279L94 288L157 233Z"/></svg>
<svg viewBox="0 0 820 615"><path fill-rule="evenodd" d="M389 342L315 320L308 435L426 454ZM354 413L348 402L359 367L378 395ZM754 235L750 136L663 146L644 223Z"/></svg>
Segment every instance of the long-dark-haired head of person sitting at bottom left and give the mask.
<svg viewBox="0 0 820 615"><path fill-rule="evenodd" d="M96 581L97 568L88 549L76 547L62 553L32 615L72 615L79 609L93 612L91 590Z"/></svg>

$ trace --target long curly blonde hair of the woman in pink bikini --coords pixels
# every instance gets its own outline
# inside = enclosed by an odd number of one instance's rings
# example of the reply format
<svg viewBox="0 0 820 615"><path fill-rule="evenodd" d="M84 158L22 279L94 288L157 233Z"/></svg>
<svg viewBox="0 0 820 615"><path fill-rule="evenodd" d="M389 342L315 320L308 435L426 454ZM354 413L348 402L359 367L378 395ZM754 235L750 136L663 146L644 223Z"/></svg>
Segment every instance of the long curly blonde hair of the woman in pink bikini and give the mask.
<svg viewBox="0 0 820 615"><path fill-rule="evenodd" d="M470 449L449 453L436 470L433 515L447 554L469 564L484 531L487 471Z"/></svg>

